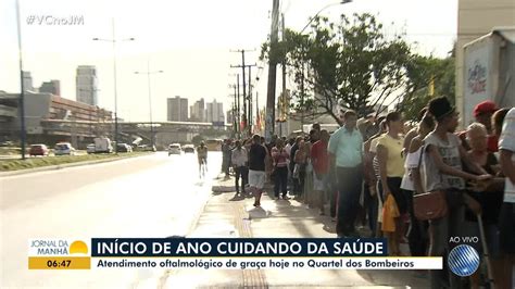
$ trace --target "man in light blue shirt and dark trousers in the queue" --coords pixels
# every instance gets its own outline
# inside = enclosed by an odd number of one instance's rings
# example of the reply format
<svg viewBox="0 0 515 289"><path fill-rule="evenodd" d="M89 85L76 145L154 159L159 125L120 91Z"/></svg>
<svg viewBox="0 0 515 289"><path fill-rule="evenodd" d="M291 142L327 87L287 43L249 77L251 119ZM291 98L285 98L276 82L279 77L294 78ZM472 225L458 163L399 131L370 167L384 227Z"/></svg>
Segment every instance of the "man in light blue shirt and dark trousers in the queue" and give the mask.
<svg viewBox="0 0 515 289"><path fill-rule="evenodd" d="M338 184L338 237L355 234L354 222L363 185L363 137L356 129L357 115L349 110L343 114L343 121L344 126L332 134L328 146Z"/></svg>

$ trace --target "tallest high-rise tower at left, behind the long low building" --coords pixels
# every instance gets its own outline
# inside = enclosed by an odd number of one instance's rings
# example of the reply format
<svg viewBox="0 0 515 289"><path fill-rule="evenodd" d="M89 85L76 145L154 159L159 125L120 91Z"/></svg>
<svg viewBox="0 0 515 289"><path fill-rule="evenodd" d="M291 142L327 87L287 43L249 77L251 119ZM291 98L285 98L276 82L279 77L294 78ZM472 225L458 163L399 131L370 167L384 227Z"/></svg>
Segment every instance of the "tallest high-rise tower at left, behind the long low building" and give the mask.
<svg viewBox="0 0 515 289"><path fill-rule="evenodd" d="M97 105L97 67L92 65L80 65L77 67L75 77L76 99L89 105Z"/></svg>

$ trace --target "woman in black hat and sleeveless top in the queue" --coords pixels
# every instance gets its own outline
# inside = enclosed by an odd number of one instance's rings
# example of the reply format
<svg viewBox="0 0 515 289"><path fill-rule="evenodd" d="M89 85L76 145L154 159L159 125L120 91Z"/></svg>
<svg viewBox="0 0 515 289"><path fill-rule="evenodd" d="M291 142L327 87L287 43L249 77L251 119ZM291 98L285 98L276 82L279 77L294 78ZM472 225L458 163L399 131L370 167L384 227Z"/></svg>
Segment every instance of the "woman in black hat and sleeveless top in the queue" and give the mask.
<svg viewBox="0 0 515 289"><path fill-rule="evenodd" d="M459 288L460 277L449 271L447 263L450 248L450 237L460 236L460 225L467 205L475 213L480 213L481 208L477 201L464 192L465 180L483 181L491 179L482 167L475 164L460 138L452 134L459 125L459 114L444 97L432 99L429 102L429 113L436 118L437 126L424 139L423 165L425 169L425 188L436 198L444 197L444 205L449 208L447 214L439 218L429 218L430 247L429 255L443 256L443 268L448 271L431 271L431 288ZM462 161L477 175L463 171ZM417 199L418 196L415 198ZM426 202L430 202L427 199ZM420 204L420 203L418 203ZM419 215L423 206L417 206L414 199L415 214ZM429 205L429 204L428 204Z"/></svg>

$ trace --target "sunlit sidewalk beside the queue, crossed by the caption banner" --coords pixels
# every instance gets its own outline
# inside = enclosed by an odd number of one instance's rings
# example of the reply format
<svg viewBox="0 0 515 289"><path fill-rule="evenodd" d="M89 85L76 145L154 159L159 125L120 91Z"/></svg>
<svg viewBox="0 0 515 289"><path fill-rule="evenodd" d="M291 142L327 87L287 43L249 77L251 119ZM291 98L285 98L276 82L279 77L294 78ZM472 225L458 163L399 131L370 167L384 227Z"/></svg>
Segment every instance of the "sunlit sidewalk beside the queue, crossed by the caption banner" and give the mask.
<svg viewBox="0 0 515 289"><path fill-rule="evenodd" d="M217 184L234 187L234 178ZM267 191L272 191L268 189ZM335 225L318 210L296 200L274 200L263 193L261 208L253 198L234 199L235 191L213 192L191 237L244 238L335 238ZM161 288L198 287L429 287L423 272L413 271L331 271L331 269L183 269L168 271Z"/></svg>

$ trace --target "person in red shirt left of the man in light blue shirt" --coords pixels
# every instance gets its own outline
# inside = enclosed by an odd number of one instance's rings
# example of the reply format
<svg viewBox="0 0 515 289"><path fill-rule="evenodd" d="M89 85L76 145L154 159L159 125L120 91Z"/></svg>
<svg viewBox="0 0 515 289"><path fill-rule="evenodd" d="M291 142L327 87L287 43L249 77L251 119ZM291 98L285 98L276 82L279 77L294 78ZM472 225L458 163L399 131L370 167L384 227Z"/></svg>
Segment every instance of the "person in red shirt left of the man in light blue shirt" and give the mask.
<svg viewBox="0 0 515 289"><path fill-rule="evenodd" d="M311 148L311 161L313 164L313 200L321 210L321 215L325 215L324 204L327 191L327 173L329 171L329 155L327 153L327 143L329 133L326 129L321 130L321 139Z"/></svg>

